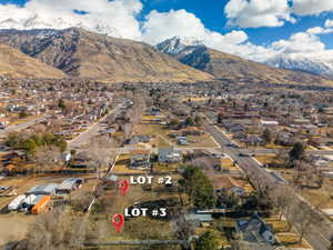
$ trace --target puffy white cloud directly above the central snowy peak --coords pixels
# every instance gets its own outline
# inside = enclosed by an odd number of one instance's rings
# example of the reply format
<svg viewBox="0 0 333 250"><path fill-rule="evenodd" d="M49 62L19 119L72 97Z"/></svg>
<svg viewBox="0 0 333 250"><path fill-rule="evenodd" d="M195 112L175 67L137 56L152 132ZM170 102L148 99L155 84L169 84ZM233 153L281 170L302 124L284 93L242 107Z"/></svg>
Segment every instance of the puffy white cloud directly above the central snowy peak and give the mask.
<svg viewBox="0 0 333 250"><path fill-rule="evenodd" d="M248 42L248 34L242 30L233 30L221 34L204 27L199 18L185 10L170 12L151 11L142 27L143 41L157 44L172 37L200 40L205 46L226 53L252 60L261 60L271 50Z"/></svg>

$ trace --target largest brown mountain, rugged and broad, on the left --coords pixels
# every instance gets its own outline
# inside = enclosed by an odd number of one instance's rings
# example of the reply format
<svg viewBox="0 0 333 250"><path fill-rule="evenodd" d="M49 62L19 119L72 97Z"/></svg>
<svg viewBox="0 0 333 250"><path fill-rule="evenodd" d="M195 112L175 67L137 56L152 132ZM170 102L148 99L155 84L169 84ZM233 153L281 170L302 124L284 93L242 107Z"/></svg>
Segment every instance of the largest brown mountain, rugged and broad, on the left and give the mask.
<svg viewBox="0 0 333 250"><path fill-rule="evenodd" d="M213 79L151 46L78 28L1 30L0 43L18 48L71 77L109 82L194 82Z"/></svg>

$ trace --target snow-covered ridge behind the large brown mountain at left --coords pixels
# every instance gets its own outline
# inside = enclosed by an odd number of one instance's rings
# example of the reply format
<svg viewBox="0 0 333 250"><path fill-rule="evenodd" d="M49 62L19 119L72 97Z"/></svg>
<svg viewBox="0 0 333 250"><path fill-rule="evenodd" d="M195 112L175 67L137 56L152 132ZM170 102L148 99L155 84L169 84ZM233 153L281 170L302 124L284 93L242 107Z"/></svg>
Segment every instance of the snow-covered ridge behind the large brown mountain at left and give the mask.
<svg viewBox="0 0 333 250"><path fill-rule="evenodd" d="M37 29L68 29L71 27L82 28L92 32L100 34L105 34L110 37L119 37L119 32L112 27L105 24L95 24L93 27L87 27L82 22L69 21L62 18L57 19L46 19L38 14L34 14L29 18L10 18L3 21L0 21L0 29L14 29L14 30L37 30Z"/></svg>

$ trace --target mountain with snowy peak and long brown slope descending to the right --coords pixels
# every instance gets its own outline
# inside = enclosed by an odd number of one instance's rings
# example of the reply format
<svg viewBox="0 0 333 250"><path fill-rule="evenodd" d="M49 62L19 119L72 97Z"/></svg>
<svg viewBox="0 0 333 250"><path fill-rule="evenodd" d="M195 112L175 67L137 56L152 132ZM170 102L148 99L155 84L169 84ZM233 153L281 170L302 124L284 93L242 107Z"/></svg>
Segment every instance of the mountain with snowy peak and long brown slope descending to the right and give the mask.
<svg viewBox="0 0 333 250"><path fill-rule="evenodd" d="M180 41L175 42L174 40ZM157 48L162 52L168 51L169 54L182 63L208 72L219 79L242 82L333 84L332 81L319 76L276 69L213 50L203 44L183 46L180 38L169 39L158 44Z"/></svg>

